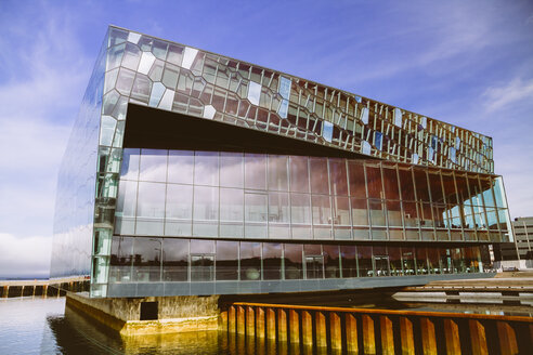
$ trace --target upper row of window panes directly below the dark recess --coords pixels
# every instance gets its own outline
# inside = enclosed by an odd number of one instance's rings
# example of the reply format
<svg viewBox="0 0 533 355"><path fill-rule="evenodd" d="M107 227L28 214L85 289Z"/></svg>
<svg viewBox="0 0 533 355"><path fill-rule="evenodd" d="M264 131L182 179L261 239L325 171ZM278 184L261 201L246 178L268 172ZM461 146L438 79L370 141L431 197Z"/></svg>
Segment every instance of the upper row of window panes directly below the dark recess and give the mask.
<svg viewBox="0 0 533 355"><path fill-rule="evenodd" d="M505 208L497 178L325 157L123 150L121 180Z"/></svg>

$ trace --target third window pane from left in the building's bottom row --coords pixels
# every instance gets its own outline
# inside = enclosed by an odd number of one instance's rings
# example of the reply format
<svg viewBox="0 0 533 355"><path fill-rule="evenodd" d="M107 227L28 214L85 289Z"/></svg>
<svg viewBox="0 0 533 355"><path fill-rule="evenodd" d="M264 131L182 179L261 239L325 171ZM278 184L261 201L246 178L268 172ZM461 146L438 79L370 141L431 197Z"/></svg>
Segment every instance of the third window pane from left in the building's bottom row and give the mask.
<svg viewBox="0 0 533 355"><path fill-rule="evenodd" d="M186 281L188 239L166 238L162 241L162 280Z"/></svg>

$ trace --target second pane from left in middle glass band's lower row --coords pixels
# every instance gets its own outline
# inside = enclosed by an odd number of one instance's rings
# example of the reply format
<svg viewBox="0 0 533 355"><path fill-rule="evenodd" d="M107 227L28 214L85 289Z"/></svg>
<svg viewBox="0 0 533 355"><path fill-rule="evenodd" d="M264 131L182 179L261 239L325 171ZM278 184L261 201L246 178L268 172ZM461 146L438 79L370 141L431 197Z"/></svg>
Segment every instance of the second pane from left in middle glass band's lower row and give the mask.
<svg viewBox="0 0 533 355"><path fill-rule="evenodd" d="M161 183L139 183L135 234L162 235L166 187Z"/></svg>

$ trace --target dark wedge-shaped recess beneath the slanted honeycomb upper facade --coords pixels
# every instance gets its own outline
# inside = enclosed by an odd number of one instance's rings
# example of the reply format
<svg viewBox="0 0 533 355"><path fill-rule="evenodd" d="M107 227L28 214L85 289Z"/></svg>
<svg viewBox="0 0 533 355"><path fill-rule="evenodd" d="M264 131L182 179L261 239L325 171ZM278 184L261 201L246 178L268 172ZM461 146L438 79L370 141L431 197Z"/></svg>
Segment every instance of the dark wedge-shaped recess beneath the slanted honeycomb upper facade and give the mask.
<svg viewBox="0 0 533 355"><path fill-rule="evenodd" d="M128 105L123 147L372 159L297 139L131 103Z"/></svg>

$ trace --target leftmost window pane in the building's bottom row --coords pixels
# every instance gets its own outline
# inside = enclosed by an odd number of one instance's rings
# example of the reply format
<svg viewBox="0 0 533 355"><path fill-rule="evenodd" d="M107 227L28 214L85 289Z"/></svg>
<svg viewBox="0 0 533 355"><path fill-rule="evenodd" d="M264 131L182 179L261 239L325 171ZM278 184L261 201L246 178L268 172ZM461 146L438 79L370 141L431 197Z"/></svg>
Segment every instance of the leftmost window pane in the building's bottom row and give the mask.
<svg viewBox="0 0 533 355"><path fill-rule="evenodd" d="M109 282L130 282L133 238L114 236L110 251Z"/></svg>

